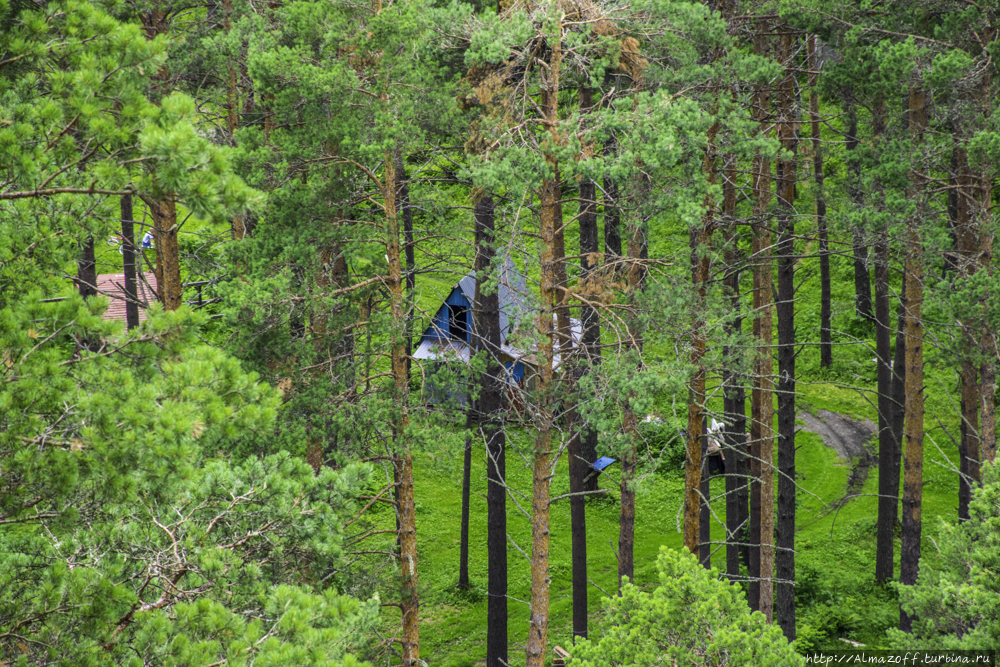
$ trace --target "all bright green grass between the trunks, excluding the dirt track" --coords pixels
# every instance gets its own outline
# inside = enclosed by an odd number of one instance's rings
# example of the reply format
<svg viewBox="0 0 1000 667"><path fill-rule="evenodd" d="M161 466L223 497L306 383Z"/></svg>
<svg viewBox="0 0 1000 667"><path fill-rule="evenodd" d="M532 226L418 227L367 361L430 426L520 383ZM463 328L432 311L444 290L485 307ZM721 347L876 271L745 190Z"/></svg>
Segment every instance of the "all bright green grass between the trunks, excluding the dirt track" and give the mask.
<svg viewBox="0 0 1000 667"><path fill-rule="evenodd" d="M680 241L679 241L680 242ZM678 243L679 243L678 242ZM806 260L806 265L816 260ZM853 281L850 260L834 258L834 329L844 332L835 336L840 343L851 342L852 336L874 347L873 332L853 314ZM807 279L800 290L797 309L799 335L810 340L818 337L818 271ZM453 282L439 281L446 290ZM448 285L445 285L447 283ZM425 301L428 307L433 299ZM749 322L745 323L749 329ZM656 354L658 350L647 350ZM800 410L831 410L855 418L877 422L874 406L875 364L871 349L860 344L838 345L834 348L833 369L820 369L817 347L808 347L798 360ZM923 550L933 557L932 538L942 520L954 521L957 506L957 475L948 469L947 461L956 461L957 452L951 440L938 426L937 417L957 437L958 419L949 391L955 387L953 371L930 348L927 353L926 386L928 435L925 447L925 485L923 498ZM683 403L683 397L677 397ZM669 397L658 401L670 403ZM721 407L721 406L718 406ZM526 451L527 435L517 446ZM935 449L937 442L941 450ZM797 474L801 485L796 517L797 577L799 586L798 621L800 648L843 648L840 638L862 642L870 647L883 645L885 630L898 623L898 604L891 586L874 582L875 525L878 470L872 466L862 495L839 509L832 504L842 498L847 489L851 467L856 462L843 461L825 447L820 438L808 432L796 437ZM416 496L418 499L417 535L421 577L421 655L431 664L458 667L480 664L485 657L486 632L486 507L483 451L475 449L472 501L470 574L473 591L461 593L455 589L458 578L459 531L461 516L461 459L447 455L421 453L415 458ZM508 454L510 483L530 495L530 471L513 448ZM560 461L552 485L553 496L568 489L565 460ZM612 468L617 476L617 466ZM614 488L609 479L604 488ZM902 489L902 486L900 487ZM636 501L635 575L636 583L655 583L655 554L661 545L680 548L678 520L682 503L683 477L679 470L659 472L646 480ZM724 490L723 480L712 482L713 496ZM618 540L617 494L592 499L587 505L589 575L594 586L589 591L592 629L599 619L604 593L614 593L617 586L617 564L614 549ZM522 506L530 510L526 500ZM720 517L725 516L724 499L713 503ZM571 561L569 503L560 500L552 507L551 542L551 607L549 645L569 646L571 639ZM508 526L513 540L525 552L530 552L530 523L513 503L508 504ZM712 539L723 539L721 526L713 522ZM613 546L612 546L613 545ZM896 544L898 573L899 544ZM513 664L521 658L528 629L529 564L513 546L508 548L510 655ZM713 565L724 568L724 549L713 557ZM386 629L391 632L398 622L398 612L386 611Z"/></svg>

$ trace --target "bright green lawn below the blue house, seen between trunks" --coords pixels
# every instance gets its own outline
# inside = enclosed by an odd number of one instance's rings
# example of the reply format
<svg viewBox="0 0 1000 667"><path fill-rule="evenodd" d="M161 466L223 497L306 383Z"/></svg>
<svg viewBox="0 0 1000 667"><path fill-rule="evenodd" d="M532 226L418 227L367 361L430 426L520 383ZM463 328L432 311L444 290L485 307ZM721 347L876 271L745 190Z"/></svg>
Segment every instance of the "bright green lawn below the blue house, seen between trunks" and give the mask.
<svg viewBox="0 0 1000 667"><path fill-rule="evenodd" d="M513 446L524 448L527 442ZM474 448L474 472L470 503L469 574L471 593L456 590L458 581L459 537L461 518L461 465L439 466L424 454L415 459L417 494L417 540L420 553L420 589L422 655L442 666L474 665L485 656L486 641L486 480L485 459L481 446ZM508 483L530 493L531 471L513 451L507 457ZM612 470L616 476L617 470ZM602 488L617 489L605 478ZM568 493L568 470L565 457L560 460L552 482L553 497ZM675 529L675 515L680 507L683 478L656 475L636 498L635 563L636 580L648 583L654 577L655 554L661 544L681 545ZM587 551L589 575L596 587L590 590L590 607L600 608L603 594L618 585L614 550L618 548L619 505L614 498L593 499L587 505ZM521 499L530 512L530 498ZM570 562L569 500L562 499L551 510L550 573L552 576L550 643L571 645L572 586ZM508 532L512 540L530 553L531 524L512 502L508 502ZM509 595L519 600L530 598L530 564L513 545L508 545ZM527 637L528 606L509 601L508 632L512 657Z"/></svg>

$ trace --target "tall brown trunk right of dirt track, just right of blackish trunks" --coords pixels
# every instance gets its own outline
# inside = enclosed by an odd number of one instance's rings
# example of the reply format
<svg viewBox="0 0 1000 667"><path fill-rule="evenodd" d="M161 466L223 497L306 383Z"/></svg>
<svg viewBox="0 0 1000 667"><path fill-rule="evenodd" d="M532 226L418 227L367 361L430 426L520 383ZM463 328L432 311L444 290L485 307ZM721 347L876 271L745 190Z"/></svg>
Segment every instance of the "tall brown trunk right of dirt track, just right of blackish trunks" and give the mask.
<svg viewBox="0 0 1000 667"><path fill-rule="evenodd" d="M926 127L925 93L910 89L910 132L919 143ZM920 197L914 177L910 196ZM921 509L924 472L924 349L923 349L923 248L919 218L907 221L906 248L906 447L903 459L903 536L900 546L900 583L917 582L920 564ZM910 632L913 619L900 607L899 629Z"/></svg>

